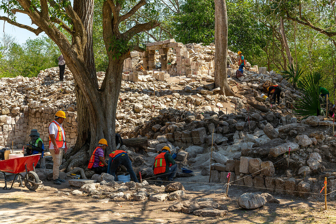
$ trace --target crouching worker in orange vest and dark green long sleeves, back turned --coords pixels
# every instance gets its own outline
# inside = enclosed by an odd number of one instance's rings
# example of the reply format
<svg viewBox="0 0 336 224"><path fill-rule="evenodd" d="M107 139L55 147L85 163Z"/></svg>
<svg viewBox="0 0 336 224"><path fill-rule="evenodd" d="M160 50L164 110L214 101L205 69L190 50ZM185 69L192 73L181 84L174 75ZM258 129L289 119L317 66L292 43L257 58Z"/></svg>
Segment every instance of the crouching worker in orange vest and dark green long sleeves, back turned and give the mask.
<svg viewBox="0 0 336 224"><path fill-rule="evenodd" d="M176 170L177 164L171 157L169 147L163 147L161 153L155 157L153 165L153 171L155 176L157 176L157 180L162 181L162 178L168 177L168 181L172 181Z"/></svg>

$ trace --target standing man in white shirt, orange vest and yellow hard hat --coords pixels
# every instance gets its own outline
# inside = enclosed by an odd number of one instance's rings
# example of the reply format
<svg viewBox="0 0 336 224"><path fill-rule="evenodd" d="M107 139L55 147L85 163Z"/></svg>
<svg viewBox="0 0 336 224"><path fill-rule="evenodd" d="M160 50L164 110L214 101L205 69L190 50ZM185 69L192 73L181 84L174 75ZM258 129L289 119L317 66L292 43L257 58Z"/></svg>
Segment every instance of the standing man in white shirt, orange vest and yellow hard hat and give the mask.
<svg viewBox="0 0 336 224"><path fill-rule="evenodd" d="M55 114L55 120L49 124L49 151L54 162L52 176L54 184L57 185L60 185L61 182L65 182L65 180L58 178L63 152L67 153L68 151L67 143L65 142L65 133L62 127L65 118L65 112L59 110Z"/></svg>

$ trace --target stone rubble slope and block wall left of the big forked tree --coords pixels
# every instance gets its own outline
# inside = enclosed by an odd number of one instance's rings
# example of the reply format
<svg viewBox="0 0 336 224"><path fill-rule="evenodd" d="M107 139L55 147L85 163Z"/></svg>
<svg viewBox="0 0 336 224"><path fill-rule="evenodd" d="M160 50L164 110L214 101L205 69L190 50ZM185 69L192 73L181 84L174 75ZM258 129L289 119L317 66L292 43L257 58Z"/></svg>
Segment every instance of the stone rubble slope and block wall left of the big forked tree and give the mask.
<svg viewBox="0 0 336 224"><path fill-rule="evenodd" d="M48 124L57 110L66 111L68 119L64 127L68 143L76 142L76 97L70 70L65 71L63 82L58 81L55 67L41 70L38 77L0 78L0 85L4 98L0 101L0 146L22 148L30 140L31 129L37 129L48 145Z"/></svg>

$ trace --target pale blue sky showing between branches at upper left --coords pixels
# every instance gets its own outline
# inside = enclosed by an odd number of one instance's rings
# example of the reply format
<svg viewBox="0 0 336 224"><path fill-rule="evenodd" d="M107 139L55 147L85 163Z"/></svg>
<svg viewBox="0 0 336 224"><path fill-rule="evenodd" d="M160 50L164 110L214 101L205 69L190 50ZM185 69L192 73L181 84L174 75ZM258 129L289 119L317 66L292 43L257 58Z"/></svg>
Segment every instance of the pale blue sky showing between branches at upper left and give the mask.
<svg viewBox="0 0 336 224"><path fill-rule="evenodd" d="M7 16L7 14L5 14L3 11L0 11L0 15L1 16ZM22 13L16 13L16 22L21 23L21 24L25 24L34 28L37 28L36 25L32 25L32 21L30 20L29 16L26 14L22 14ZM0 32L2 33L4 30L4 21L0 21ZM34 33L26 30L26 29L22 29L22 28L18 28L16 26L13 26L9 23L5 23L5 33L6 34L10 34L12 36L14 36L16 38L16 43L18 44L23 44L26 42L27 39L31 38L31 39L35 39L37 37L41 37L41 36L46 36L46 34L44 32L40 33L38 36L36 36ZM1 34L2 35L2 34Z"/></svg>

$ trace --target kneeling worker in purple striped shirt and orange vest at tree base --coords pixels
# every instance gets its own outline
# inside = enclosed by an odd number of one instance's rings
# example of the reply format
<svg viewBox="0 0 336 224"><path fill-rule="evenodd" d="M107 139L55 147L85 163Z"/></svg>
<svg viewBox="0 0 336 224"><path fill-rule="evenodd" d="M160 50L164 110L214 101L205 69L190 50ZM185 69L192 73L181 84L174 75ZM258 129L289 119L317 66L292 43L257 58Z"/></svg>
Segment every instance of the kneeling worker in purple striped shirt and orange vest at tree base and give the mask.
<svg viewBox="0 0 336 224"><path fill-rule="evenodd" d="M88 169L91 169L94 173L99 175L101 173L107 173L108 164L104 157L106 146L108 146L106 139L100 139L98 147L93 151L89 160L89 165L87 166Z"/></svg>

